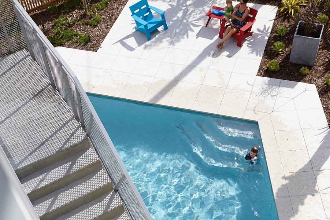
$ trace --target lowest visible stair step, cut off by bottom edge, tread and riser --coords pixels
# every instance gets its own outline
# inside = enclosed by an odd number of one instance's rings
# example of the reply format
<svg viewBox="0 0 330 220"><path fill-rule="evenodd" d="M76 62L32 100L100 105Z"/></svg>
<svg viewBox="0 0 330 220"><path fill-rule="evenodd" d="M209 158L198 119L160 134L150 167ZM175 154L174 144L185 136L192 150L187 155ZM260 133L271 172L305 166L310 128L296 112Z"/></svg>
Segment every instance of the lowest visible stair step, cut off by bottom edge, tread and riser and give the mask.
<svg viewBox="0 0 330 220"><path fill-rule="evenodd" d="M120 219L131 219L127 216L119 195L113 191L56 220L115 220L120 216L123 217Z"/></svg>

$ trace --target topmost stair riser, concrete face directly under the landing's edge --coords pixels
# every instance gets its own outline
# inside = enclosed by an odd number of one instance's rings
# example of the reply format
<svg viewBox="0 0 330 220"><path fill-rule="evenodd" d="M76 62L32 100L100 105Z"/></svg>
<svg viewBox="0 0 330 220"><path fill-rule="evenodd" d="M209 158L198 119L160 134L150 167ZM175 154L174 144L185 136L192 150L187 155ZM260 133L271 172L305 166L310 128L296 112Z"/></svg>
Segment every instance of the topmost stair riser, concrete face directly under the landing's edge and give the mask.
<svg viewBox="0 0 330 220"><path fill-rule="evenodd" d="M38 161L35 162L31 161L31 163L28 163L26 166L16 169L15 173L19 179L22 179L58 161L74 156L83 150L87 150L89 147L90 147L89 139L87 136L85 136L83 140L80 141L79 143L67 147L65 149L58 150L55 153L52 153L50 155L47 155L39 159Z"/></svg>

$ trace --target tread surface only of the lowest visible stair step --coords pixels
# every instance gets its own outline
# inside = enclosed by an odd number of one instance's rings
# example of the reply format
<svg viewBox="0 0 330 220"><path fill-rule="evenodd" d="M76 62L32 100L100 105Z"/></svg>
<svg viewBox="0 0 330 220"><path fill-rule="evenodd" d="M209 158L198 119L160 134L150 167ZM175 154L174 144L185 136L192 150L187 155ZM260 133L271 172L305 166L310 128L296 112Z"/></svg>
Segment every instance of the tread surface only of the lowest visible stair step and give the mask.
<svg viewBox="0 0 330 220"><path fill-rule="evenodd" d="M122 204L123 203L120 196L115 192L111 192L57 218L56 220L94 219L107 211L114 210L116 207ZM124 212L123 214L126 213Z"/></svg>

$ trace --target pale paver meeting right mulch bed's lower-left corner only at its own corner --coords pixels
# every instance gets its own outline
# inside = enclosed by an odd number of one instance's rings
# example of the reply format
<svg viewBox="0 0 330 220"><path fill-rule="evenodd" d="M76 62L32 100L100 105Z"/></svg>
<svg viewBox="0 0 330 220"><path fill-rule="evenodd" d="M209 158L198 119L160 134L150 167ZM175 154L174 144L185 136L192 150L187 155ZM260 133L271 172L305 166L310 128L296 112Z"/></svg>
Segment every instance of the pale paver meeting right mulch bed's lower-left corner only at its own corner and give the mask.
<svg viewBox="0 0 330 220"><path fill-rule="evenodd" d="M255 76L232 73L227 88L251 92Z"/></svg>

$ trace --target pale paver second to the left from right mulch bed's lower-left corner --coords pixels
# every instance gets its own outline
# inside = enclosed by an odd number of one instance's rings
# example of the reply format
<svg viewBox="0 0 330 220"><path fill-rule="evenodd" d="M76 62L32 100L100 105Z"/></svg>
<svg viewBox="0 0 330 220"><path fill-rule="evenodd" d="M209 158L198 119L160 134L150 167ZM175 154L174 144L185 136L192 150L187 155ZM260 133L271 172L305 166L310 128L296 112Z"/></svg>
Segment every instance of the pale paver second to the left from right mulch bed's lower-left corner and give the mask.
<svg viewBox="0 0 330 220"><path fill-rule="evenodd" d="M230 79L231 73L221 70L208 70L203 85L212 85L226 88Z"/></svg>

